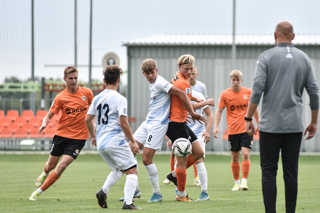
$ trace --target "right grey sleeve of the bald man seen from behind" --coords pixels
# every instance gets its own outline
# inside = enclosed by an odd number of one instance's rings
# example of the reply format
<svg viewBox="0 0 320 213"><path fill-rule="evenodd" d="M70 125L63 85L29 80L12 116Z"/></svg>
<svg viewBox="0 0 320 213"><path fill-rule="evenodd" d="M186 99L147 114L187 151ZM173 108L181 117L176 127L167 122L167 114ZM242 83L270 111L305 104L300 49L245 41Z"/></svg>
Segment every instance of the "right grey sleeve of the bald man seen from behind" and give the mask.
<svg viewBox="0 0 320 213"><path fill-rule="evenodd" d="M312 110L319 109L319 93L318 93L319 87L316 82L315 72L313 70L310 59L309 59L309 70L308 70L308 76L307 76L305 88L310 98L310 108Z"/></svg>

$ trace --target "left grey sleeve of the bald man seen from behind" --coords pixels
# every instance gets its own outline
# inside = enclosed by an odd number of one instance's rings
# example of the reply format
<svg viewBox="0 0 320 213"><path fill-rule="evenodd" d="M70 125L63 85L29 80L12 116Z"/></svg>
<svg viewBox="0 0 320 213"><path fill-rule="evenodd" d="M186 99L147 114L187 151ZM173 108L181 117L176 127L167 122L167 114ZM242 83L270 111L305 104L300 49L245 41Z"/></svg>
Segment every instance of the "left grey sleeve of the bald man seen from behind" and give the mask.
<svg viewBox="0 0 320 213"><path fill-rule="evenodd" d="M252 87L252 93L250 96L250 102L254 104L258 104L262 93L266 89L266 82L267 82L267 54L264 52L262 53L257 61L256 70L254 74L254 80L253 80L253 87Z"/></svg>

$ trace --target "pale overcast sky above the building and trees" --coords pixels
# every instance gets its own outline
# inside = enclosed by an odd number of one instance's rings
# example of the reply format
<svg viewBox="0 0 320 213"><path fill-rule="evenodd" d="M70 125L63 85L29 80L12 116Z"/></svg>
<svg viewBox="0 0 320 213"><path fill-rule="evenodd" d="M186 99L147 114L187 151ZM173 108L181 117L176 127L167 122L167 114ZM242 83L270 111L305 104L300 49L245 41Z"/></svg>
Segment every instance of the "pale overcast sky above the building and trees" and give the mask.
<svg viewBox="0 0 320 213"><path fill-rule="evenodd" d="M75 0L34 0L35 77L62 78L74 64ZM79 80L88 81L90 0L77 0ZM123 41L161 33L232 33L233 0L92 0L92 78L114 52L127 69ZM237 34L270 34L281 20L296 34L320 34L319 0L236 0ZM31 0L0 1L0 83L31 76ZM293 42L294 43L294 42ZM258 57L258 56L257 56Z"/></svg>

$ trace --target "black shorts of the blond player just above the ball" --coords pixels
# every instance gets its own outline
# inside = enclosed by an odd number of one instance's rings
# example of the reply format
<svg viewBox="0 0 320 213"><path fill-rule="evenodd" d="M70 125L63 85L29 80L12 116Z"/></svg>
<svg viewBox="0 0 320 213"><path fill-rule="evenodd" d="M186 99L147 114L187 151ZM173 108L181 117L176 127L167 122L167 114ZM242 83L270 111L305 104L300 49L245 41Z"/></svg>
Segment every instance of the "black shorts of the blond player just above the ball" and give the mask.
<svg viewBox="0 0 320 213"><path fill-rule="evenodd" d="M186 122L169 122L167 134L168 138L172 141L172 143L178 138L186 138L191 143L199 140L196 134L188 127Z"/></svg>

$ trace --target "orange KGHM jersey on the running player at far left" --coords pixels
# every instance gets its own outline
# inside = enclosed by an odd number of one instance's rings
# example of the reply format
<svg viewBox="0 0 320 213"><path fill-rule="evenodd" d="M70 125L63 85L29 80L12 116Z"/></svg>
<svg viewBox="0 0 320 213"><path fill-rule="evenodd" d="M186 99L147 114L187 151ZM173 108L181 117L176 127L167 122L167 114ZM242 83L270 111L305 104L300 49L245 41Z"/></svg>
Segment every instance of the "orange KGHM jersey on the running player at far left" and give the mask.
<svg viewBox="0 0 320 213"><path fill-rule="evenodd" d="M75 94L67 89L53 100L50 112L58 114L61 109L56 135L72 139L88 139L89 132L84 123L93 93L88 88L79 87Z"/></svg>

